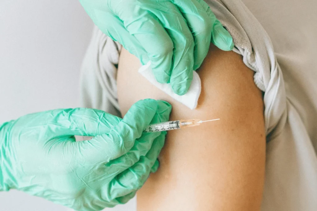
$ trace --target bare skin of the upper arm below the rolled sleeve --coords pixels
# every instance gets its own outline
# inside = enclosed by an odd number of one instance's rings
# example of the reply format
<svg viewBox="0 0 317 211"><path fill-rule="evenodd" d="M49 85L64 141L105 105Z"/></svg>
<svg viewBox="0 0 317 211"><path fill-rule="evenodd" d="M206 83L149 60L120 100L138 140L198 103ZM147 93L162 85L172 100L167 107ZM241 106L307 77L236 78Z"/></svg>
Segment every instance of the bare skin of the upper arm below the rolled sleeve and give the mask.
<svg viewBox="0 0 317 211"><path fill-rule="evenodd" d="M160 168L137 194L138 211L260 210L265 131L262 92L240 55L213 45L200 67L202 92L191 110L137 73L140 63L123 49L117 76L124 115L139 99L172 104L170 120L220 118L169 131Z"/></svg>

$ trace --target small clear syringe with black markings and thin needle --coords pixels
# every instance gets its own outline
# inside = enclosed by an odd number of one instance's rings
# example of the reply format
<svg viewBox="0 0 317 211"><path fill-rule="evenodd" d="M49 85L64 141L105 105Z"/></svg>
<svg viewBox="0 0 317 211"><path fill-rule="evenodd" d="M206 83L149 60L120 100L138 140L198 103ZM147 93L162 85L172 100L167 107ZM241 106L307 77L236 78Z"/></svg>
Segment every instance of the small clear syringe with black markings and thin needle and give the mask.
<svg viewBox="0 0 317 211"><path fill-rule="evenodd" d="M206 121L192 119L192 120L176 120L176 121L159 122L159 123L155 123L155 124L151 124L147 126L143 130L143 133L176 130L176 129L180 129L184 127L193 127L193 126L198 126L203 122L216 121L216 120L220 120L220 119L212 119L212 120L206 120Z"/></svg>

